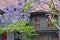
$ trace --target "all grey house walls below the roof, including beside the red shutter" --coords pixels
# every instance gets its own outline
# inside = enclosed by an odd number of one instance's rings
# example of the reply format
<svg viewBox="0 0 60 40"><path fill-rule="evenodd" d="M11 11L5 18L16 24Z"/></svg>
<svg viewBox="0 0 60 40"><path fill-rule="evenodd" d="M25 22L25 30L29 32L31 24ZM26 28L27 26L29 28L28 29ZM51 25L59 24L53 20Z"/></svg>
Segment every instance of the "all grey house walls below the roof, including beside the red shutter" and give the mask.
<svg viewBox="0 0 60 40"><path fill-rule="evenodd" d="M35 28L37 36L32 36L31 40L60 40L60 29L52 24L46 16L46 12L32 12L30 13L30 25ZM54 17L59 24L60 17ZM2 33L0 40L26 40L24 33Z"/></svg>

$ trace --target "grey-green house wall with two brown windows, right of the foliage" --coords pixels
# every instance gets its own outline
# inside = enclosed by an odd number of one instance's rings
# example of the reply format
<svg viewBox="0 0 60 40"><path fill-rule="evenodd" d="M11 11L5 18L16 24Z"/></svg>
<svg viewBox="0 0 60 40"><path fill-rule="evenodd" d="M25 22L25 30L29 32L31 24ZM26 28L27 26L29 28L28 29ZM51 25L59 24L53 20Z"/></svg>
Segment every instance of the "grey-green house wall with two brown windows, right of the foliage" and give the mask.
<svg viewBox="0 0 60 40"><path fill-rule="evenodd" d="M34 26L38 36L33 40L59 40L59 29L51 23L44 12L31 13L31 25ZM58 16L55 16L58 23Z"/></svg>

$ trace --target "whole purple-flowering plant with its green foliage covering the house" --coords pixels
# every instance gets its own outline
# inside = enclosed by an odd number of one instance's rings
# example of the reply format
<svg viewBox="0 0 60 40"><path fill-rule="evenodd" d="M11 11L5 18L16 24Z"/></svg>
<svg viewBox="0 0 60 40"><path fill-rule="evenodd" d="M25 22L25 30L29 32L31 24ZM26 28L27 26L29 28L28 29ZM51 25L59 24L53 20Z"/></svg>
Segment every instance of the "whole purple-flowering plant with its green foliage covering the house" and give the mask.
<svg viewBox="0 0 60 40"><path fill-rule="evenodd" d="M32 34L32 32L35 32L34 28L29 25L29 16L28 11L32 11L34 9L32 3L37 3L37 0L19 0L16 5L9 5L6 8L3 8L5 14L2 16L0 15L0 22L1 23L9 23L11 24L7 25L6 27L0 27L0 34L3 32L24 32L27 36L26 40L30 40L31 35L34 35L35 33ZM48 17L50 18L51 22L53 24L56 24L56 20L54 19L54 14L57 11L54 2L58 0L39 0L38 2L44 2L49 5L50 11L48 13ZM60 1L60 0L59 0ZM38 4L39 4L38 3ZM41 5L40 5L41 6ZM39 6L39 7L40 7ZM59 7L59 6L58 6ZM42 8L42 6L41 6ZM53 16L51 16L51 15ZM53 18L51 18L53 17ZM24 20L25 19L25 20ZM9 20L9 21L8 21Z"/></svg>

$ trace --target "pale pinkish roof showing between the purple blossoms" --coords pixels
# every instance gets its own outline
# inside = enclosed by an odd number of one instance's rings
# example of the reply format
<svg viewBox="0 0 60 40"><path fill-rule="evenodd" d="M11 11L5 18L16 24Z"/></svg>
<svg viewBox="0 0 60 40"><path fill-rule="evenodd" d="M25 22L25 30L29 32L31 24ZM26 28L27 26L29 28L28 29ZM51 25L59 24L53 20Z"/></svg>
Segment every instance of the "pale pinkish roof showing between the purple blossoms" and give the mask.
<svg viewBox="0 0 60 40"><path fill-rule="evenodd" d="M24 0L22 0L24 1ZM45 11L45 12L49 12L50 11L50 5L47 3L49 0L37 0L36 2L33 2L31 4L31 6L33 6L31 8L31 10L29 10L28 12L36 12L36 11ZM18 2L18 0L0 0L0 9L12 4L12 5L16 5L16 3ZM58 2L58 0L54 0L54 5L55 8L57 10L60 11L60 3Z"/></svg>

